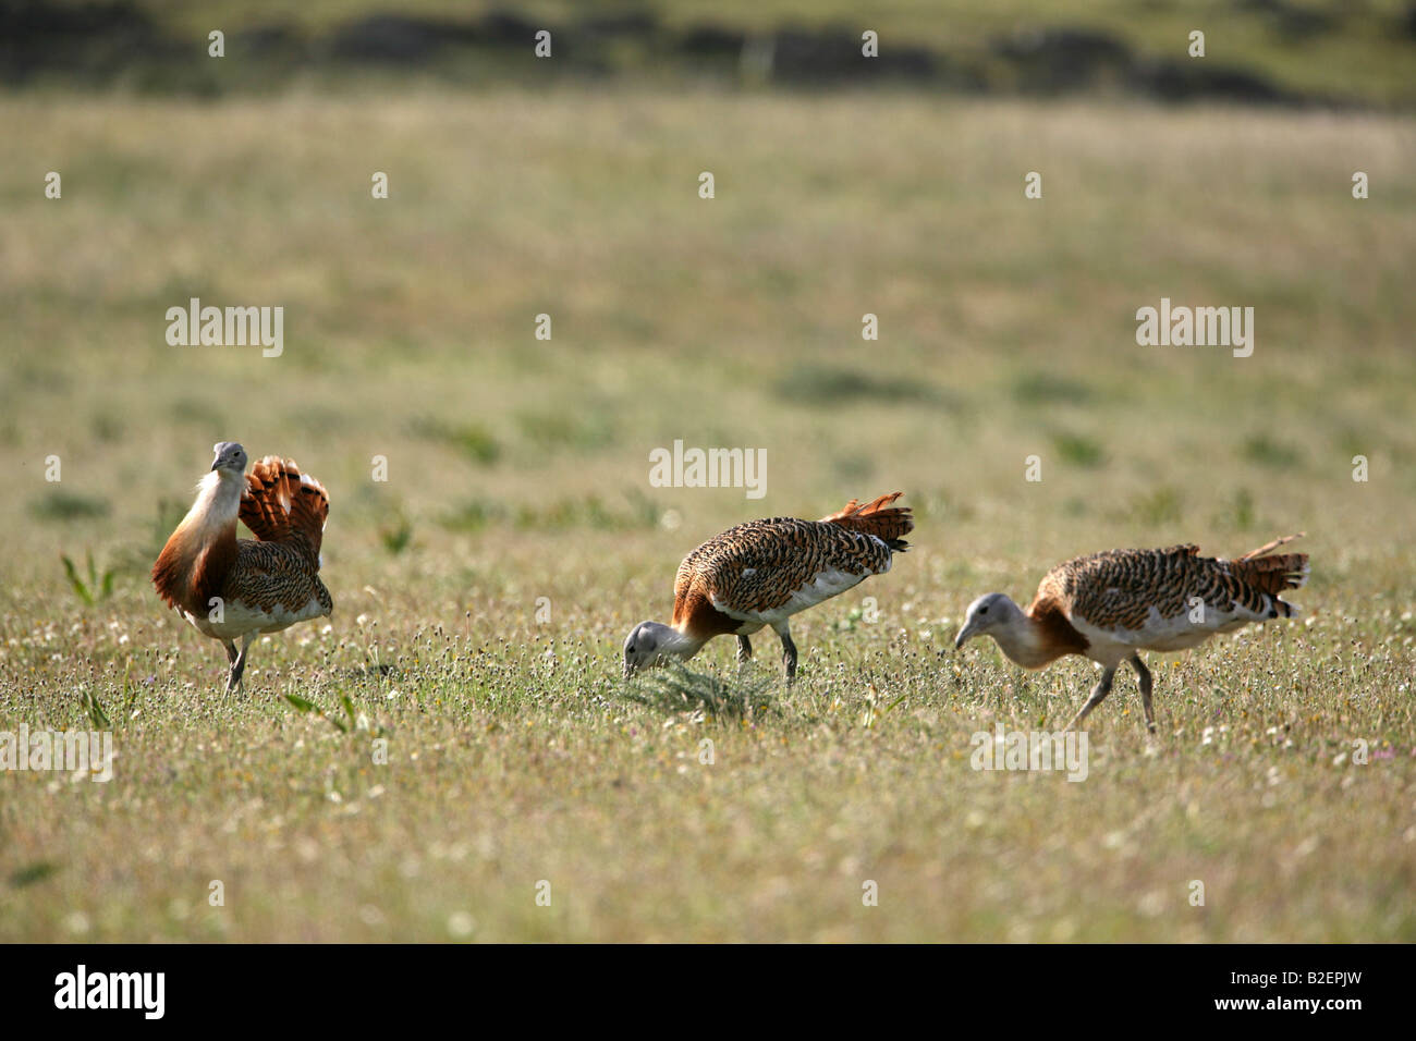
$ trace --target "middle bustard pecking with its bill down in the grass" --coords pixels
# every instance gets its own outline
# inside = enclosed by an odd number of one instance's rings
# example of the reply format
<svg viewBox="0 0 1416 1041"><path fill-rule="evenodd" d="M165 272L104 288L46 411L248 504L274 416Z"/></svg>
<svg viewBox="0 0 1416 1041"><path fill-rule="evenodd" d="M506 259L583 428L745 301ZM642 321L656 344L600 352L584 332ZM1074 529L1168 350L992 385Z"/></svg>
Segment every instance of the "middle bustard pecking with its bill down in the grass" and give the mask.
<svg viewBox="0 0 1416 1041"><path fill-rule="evenodd" d="M671 625L640 622L624 640L624 677L667 657L691 659L714 636L738 637L738 661L752 657L748 637L772 626L782 637L787 681L797 652L787 619L889 571L909 545L909 507L892 507L902 493L867 506L852 499L818 521L772 517L728 528L678 565Z"/></svg>

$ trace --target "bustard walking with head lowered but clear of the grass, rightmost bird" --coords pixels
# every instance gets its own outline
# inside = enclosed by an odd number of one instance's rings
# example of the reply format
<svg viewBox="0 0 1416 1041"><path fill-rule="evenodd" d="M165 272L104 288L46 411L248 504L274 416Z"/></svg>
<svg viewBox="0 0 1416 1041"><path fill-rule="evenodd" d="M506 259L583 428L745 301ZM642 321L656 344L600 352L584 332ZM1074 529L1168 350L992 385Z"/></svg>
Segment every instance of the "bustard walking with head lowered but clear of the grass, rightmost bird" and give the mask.
<svg viewBox="0 0 1416 1041"><path fill-rule="evenodd" d="M1276 538L1235 561L1201 557L1197 545L1078 557L1044 576L1027 610L1003 593L970 603L954 647L987 633L1024 669L1041 669L1063 654L1102 663L1100 681L1068 729L1102 704L1117 667L1130 661L1146 725L1154 731L1151 674L1140 652L1185 650L1250 622L1294 618L1298 609L1279 593L1307 582L1308 557L1266 555L1294 538L1300 535Z"/></svg>

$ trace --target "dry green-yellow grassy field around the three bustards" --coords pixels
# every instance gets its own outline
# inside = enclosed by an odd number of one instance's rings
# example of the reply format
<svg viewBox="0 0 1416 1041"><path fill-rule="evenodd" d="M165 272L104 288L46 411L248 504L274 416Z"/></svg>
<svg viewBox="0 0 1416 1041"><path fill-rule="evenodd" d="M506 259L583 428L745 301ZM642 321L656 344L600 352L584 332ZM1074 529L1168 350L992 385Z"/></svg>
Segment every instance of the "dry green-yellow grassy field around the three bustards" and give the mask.
<svg viewBox="0 0 1416 1041"><path fill-rule="evenodd" d="M0 729L96 701L118 752L0 775L0 939L1416 939L1413 157L895 93L0 99ZM167 346L193 296L285 353ZM1253 306L1253 355L1138 347L1161 297ZM232 698L146 581L221 439L333 500L331 625ZM765 448L766 497L651 487L674 439ZM770 636L694 660L718 712L620 678L700 541L893 490L913 550L800 616L792 690ZM1085 782L970 769L1093 681L953 652L974 596L1291 531L1307 618L1153 656L1154 738L1119 676Z"/></svg>

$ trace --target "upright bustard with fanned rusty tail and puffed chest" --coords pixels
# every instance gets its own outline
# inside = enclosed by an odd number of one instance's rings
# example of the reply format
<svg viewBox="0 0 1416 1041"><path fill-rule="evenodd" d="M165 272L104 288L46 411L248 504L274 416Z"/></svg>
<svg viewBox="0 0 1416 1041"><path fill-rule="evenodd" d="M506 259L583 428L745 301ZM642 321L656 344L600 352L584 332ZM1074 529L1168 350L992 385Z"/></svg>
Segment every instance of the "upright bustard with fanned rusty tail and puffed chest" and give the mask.
<svg viewBox="0 0 1416 1041"><path fill-rule="evenodd" d="M224 440L212 450L197 501L153 565L153 585L200 632L225 644L229 694L241 684L256 633L333 613L319 575L330 497L292 459L266 456L248 477L241 445ZM236 538L238 517L258 541Z"/></svg>

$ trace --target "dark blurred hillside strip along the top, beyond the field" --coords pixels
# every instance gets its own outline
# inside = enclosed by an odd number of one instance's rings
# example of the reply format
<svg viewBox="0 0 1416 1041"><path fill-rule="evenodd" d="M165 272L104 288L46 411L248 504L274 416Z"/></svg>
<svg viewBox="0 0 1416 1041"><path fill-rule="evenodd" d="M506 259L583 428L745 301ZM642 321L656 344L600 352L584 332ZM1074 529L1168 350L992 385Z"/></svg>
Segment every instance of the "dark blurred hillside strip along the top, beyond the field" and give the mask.
<svg viewBox="0 0 1416 1041"><path fill-rule="evenodd" d="M225 59L207 35L225 34ZM551 58L532 54L551 33ZM1188 54L1205 34L1205 57ZM879 54L862 55L862 33ZM0 0L0 84L224 93L418 74L1416 106L1416 0Z"/></svg>

